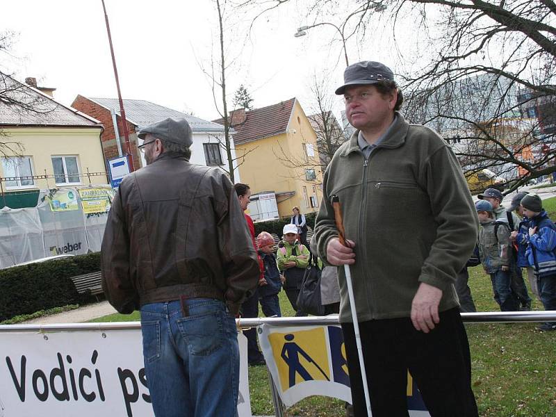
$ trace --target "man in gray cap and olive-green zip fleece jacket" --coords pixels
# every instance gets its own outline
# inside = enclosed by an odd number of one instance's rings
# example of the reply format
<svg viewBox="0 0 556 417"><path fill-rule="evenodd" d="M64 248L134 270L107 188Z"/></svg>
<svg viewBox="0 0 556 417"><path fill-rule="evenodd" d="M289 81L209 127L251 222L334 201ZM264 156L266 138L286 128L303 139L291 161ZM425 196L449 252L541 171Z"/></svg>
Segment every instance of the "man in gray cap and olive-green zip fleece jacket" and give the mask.
<svg viewBox="0 0 556 417"><path fill-rule="evenodd" d="M402 92L382 63L350 65L343 95L357 130L324 176L315 246L350 265L373 417L409 416L407 370L432 416L478 416L471 357L454 288L477 240L475 206L450 147L399 113ZM342 204L341 245L331 195ZM338 268L356 416L366 416L343 268Z"/></svg>

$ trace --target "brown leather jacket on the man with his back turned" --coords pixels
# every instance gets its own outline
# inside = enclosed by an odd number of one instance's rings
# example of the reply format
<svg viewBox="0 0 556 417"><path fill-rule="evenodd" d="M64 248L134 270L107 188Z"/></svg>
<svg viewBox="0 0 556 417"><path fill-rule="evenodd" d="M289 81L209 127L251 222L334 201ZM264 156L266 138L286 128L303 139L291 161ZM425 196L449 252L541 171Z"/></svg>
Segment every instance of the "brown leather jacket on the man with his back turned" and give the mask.
<svg viewBox="0 0 556 417"><path fill-rule="evenodd" d="M211 297L238 312L259 263L234 186L218 168L163 154L120 183L101 248L102 288L120 313Z"/></svg>

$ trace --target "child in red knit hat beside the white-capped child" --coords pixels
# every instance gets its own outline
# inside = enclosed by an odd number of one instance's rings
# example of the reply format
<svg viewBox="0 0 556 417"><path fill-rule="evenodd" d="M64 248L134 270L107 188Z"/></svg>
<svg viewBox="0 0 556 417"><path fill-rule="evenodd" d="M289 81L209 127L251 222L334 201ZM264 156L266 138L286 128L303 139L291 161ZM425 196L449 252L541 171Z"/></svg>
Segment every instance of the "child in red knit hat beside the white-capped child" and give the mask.
<svg viewBox="0 0 556 417"><path fill-rule="evenodd" d="M278 293L282 282L274 256L274 239L268 231L261 231L256 238L259 256L263 260L264 279L259 283L259 302L265 317L281 317Z"/></svg>

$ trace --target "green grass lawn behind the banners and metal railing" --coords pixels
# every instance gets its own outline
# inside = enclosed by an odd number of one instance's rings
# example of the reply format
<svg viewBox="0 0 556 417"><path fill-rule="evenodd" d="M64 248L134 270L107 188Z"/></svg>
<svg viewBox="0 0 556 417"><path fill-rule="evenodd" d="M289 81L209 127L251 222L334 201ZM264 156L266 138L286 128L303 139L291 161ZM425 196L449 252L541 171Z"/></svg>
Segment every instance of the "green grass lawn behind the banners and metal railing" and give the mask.
<svg viewBox="0 0 556 417"><path fill-rule="evenodd" d="M556 219L556 197L544 200L543 207L553 220ZM490 279L482 267L470 268L469 276L477 311L498 311ZM525 283L529 284L527 279ZM284 316L293 316L284 292L280 293L280 306ZM543 309L539 300L533 301L533 309ZM129 316L113 314L92 321L138 319L136 312ZM481 416L556 417L556 332L542 333L535 329L536 326L534 323L466 325L471 347L473 390ZM253 415L274 414L268 375L263 366L249 368L249 384ZM288 409L288 416L343 415L343 402L326 397L306 398Z"/></svg>

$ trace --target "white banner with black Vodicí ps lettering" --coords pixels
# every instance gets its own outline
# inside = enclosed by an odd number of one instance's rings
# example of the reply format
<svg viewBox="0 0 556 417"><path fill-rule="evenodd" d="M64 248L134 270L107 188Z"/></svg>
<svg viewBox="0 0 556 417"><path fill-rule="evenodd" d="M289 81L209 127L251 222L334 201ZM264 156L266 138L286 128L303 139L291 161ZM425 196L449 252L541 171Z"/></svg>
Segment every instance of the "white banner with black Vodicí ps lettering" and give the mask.
<svg viewBox="0 0 556 417"><path fill-rule="evenodd" d="M238 414L251 417L247 338L238 341ZM0 417L153 416L140 329L1 332L0 358Z"/></svg>

